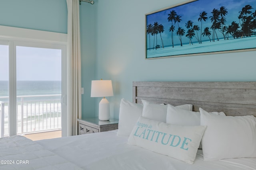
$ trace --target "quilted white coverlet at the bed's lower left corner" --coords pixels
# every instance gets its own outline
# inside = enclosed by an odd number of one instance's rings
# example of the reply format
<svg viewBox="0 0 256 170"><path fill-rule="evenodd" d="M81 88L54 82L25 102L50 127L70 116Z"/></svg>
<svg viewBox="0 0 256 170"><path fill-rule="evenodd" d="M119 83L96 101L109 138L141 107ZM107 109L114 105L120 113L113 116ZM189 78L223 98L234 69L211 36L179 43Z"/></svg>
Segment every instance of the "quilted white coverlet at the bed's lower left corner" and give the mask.
<svg viewBox="0 0 256 170"><path fill-rule="evenodd" d="M0 138L0 170L82 170L22 136Z"/></svg>

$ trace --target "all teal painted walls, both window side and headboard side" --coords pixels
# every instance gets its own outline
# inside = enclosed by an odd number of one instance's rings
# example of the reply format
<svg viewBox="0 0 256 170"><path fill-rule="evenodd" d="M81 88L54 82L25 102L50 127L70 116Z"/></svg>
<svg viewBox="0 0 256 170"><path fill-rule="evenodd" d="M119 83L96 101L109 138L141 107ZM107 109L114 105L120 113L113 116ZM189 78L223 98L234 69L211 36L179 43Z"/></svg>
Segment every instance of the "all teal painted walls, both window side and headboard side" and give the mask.
<svg viewBox="0 0 256 170"><path fill-rule="evenodd" d="M118 119L133 81L256 81L256 51L145 60L145 14L181 0L95 0L80 6L82 117L98 115L91 80L112 80ZM67 33L66 0L0 0L0 25Z"/></svg>

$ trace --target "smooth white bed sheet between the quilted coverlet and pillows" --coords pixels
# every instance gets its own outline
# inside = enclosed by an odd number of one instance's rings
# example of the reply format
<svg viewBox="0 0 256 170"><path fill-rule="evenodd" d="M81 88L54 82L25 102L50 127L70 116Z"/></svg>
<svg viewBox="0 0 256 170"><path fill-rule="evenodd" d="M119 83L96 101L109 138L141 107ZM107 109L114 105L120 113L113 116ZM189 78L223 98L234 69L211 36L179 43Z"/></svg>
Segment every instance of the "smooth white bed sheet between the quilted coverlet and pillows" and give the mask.
<svg viewBox="0 0 256 170"><path fill-rule="evenodd" d="M198 150L194 164L187 164L127 145L128 137L120 137L116 133L108 131L36 143L85 170L256 170L256 158L204 161L202 150Z"/></svg>

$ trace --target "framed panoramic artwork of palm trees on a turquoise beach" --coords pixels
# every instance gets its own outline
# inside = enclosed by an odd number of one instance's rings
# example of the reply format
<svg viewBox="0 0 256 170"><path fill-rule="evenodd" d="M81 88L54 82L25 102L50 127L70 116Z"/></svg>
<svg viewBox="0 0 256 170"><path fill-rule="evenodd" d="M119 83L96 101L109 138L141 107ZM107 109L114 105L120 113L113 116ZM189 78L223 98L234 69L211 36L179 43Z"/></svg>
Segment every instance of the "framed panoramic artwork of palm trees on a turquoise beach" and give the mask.
<svg viewBox="0 0 256 170"><path fill-rule="evenodd" d="M145 16L146 59L256 50L255 0L190 0Z"/></svg>

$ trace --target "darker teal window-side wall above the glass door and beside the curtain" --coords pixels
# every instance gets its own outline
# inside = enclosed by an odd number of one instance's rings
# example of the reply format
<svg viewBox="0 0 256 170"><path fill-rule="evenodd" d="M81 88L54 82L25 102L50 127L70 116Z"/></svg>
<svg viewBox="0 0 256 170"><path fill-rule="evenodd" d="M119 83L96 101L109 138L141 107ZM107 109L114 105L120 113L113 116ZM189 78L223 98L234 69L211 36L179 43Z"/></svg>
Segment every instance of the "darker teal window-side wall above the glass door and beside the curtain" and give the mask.
<svg viewBox="0 0 256 170"><path fill-rule="evenodd" d="M0 0L0 25L67 33L66 0ZM96 72L96 6L81 2L82 117L95 116L90 83Z"/></svg>

